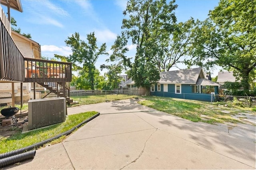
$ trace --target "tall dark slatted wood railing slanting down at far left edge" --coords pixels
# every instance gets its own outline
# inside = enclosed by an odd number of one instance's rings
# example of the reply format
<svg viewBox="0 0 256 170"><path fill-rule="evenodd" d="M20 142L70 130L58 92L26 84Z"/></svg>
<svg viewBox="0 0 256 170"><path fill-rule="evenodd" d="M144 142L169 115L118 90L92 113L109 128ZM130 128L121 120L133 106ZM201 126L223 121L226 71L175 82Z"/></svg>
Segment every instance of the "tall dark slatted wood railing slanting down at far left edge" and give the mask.
<svg viewBox="0 0 256 170"><path fill-rule="evenodd" d="M0 80L23 82L23 55L10 35L10 22L0 8Z"/></svg>

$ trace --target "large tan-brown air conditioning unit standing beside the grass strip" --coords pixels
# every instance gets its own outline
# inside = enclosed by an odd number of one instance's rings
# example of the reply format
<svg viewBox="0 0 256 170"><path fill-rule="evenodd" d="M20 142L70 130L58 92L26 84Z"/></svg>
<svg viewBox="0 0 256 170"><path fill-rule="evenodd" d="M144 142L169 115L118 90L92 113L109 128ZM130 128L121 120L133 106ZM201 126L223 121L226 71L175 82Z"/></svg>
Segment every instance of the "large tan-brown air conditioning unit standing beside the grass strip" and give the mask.
<svg viewBox="0 0 256 170"><path fill-rule="evenodd" d="M44 98L28 101L28 129L66 120L66 98Z"/></svg>

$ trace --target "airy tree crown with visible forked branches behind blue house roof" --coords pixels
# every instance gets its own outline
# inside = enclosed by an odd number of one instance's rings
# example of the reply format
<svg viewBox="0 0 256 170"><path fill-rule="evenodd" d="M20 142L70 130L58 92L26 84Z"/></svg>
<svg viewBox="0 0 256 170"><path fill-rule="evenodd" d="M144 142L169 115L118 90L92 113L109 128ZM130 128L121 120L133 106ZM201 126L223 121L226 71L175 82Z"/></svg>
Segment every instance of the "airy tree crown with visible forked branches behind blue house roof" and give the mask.
<svg viewBox="0 0 256 170"><path fill-rule="evenodd" d="M162 31L159 38L156 39L151 49L154 63L160 72L169 71L174 66L178 68L178 63L184 63L191 46L191 29L194 24L193 18L177 23L171 33Z"/></svg>

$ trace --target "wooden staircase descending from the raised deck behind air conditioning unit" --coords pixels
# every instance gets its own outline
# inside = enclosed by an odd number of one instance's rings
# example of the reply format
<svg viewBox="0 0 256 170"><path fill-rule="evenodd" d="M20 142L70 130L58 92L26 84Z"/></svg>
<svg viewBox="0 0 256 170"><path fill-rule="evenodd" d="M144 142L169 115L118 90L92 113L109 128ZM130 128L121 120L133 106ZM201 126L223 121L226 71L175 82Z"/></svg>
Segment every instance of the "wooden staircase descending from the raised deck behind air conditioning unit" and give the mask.
<svg viewBox="0 0 256 170"><path fill-rule="evenodd" d="M55 86L52 86L52 84L50 84L50 83L41 83L41 82L37 82L37 83L40 84L41 86L43 86L44 88L46 88L47 90L50 90L50 92L48 94L50 94L52 92L54 94L57 94L58 97L66 98L66 101L69 104L73 103L73 100L69 97L69 95L67 96L69 90L65 86L65 83L55 83ZM48 96L48 94L46 94L46 96ZM46 96L44 96L44 98Z"/></svg>

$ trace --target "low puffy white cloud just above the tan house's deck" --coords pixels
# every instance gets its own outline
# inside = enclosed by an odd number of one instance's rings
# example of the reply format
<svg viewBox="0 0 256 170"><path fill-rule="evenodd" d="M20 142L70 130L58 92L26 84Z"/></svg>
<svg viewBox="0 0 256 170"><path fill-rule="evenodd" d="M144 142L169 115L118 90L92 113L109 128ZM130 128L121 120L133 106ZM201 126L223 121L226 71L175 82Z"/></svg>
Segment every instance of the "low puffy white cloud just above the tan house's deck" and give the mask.
<svg viewBox="0 0 256 170"><path fill-rule="evenodd" d="M47 54L52 57L54 56L54 54L64 55L64 56L68 56L72 54L72 50L70 47L64 47L64 46L57 47L56 45L42 45L41 52L42 52L42 56Z"/></svg>

